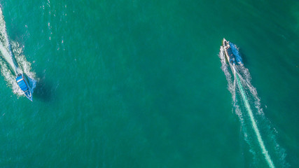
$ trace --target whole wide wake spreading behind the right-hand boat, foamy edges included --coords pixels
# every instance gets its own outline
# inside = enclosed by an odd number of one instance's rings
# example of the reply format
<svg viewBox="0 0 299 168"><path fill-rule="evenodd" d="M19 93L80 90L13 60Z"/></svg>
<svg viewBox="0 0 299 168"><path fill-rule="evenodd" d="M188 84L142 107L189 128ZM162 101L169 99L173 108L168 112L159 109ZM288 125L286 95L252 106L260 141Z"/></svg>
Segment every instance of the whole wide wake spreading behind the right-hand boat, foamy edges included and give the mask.
<svg viewBox="0 0 299 168"><path fill-rule="evenodd" d="M236 59L242 61L235 44L230 43ZM224 48L221 46L219 55L221 69L228 80L228 90L232 94L233 111L239 117L243 137L249 145L252 158L245 158L252 167L289 167L285 161L286 153L276 140L277 131L270 120L265 117L260 105L256 88L251 85L251 75L243 64L235 65L235 72L225 61Z"/></svg>

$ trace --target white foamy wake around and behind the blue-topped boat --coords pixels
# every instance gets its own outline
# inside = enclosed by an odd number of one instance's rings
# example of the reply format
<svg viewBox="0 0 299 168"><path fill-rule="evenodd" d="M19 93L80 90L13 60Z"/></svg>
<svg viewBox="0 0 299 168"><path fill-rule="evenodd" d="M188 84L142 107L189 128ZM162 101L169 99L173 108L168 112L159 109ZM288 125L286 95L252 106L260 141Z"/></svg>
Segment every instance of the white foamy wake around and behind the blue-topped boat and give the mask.
<svg viewBox="0 0 299 168"><path fill-rule="evenodd" d="M4 20L4 15L0 7L0 70L2 76L8 83L8 86L12 88L13 93L18 96L24 95L24 92L18 86L15 80L15 76L18 73L26 74L29 78L29 85L36 87L36 74L32 71L31 63L27 61L25 55L23 55L22 48L15 41L9 41L6 32L6 22ZM15 59L13 57L15 56Z"/></svg>

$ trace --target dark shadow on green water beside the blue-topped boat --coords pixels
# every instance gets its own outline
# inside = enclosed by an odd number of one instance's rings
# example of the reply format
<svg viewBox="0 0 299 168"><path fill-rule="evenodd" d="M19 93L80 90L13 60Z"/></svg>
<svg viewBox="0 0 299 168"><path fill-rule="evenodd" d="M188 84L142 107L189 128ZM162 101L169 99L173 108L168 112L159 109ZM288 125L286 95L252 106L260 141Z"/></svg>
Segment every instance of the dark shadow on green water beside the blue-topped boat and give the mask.
<svg viewBox="0 0 299 168"><path fill-rule="evenodd" d="M33 96L35 99L40 99L43 102L52 102L54 99L52 85L44 78L41 78L36 82Z"/></svg>

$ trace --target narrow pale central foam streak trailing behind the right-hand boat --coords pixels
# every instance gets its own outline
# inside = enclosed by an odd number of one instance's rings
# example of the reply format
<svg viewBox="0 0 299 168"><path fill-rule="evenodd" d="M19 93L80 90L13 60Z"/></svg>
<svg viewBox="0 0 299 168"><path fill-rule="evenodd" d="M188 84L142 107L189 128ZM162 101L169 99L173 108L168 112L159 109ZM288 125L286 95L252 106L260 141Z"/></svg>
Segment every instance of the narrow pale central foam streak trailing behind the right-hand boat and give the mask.
<svg viewBox="0 0 299 168"><path fill-rule="evenodd" d="M254 132L256 132L256 137L258 138L258 143L260 144L260 148L262 149L263 151L263 155L265 155L265 160L267 160L267 164L269 165L269 167L271 168L274 168L274 164L270 158L270 155L267 151L267 149L265 148L265 144L263 142L263 139L262 137L260 136L260 131L258 130L258 125L256 125L256 120L254 120L254 117L253 117L253 113L251 111L251 108L250 108L250 105L249 105L249 102L248 100L246 99L246 95L245 95L245 92L243 90L243 87L242 87L242 84L241 82L239 81L239 74L238 73L235 73L235 77L237 79L237 84L239 85L239 91L241 92L242 94L242 98L244 100L244 104L246 106L246 109L249 113L249 117L250 117L250 120L251 120L251 123L252 123L252 127L253 127L253 130Z"/></svg>

